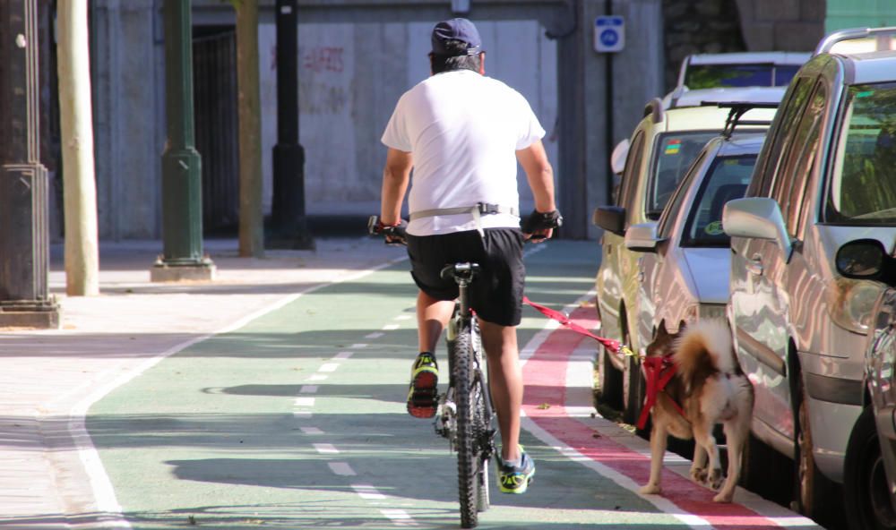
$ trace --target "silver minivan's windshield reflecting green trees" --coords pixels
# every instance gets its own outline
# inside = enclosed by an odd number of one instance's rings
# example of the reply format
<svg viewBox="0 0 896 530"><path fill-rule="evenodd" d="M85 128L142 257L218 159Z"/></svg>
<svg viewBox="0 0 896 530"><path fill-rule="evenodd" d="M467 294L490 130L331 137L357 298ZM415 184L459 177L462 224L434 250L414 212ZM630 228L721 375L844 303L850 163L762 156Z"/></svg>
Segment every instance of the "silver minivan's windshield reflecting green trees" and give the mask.
<svg viewBox="0 0 896 530"><path fill-rule="evenodd" d="M826 222L896 225L896 82L849 87Z"/></svg>

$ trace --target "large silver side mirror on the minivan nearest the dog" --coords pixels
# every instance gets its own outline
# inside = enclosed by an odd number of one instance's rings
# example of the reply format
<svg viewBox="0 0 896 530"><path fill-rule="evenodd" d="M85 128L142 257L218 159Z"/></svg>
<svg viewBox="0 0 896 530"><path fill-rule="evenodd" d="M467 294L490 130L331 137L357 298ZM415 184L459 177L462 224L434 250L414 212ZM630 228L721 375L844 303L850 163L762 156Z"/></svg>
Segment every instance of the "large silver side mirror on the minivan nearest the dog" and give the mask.
<svg viewBox="0 0 896 530"><path fill-rule="evenodd" d="M725 203L722 229L731 237L771 239L784 252L785 261L793 254L793 242L784 226L778 201L768 197L747 197Z"/></svg>

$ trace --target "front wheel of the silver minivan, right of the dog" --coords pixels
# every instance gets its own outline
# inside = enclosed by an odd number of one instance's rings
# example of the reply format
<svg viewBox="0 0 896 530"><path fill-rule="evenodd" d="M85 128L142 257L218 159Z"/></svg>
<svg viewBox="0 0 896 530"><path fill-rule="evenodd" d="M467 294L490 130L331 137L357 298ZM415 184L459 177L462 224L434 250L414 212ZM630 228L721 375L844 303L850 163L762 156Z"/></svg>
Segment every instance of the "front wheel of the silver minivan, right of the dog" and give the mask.
<svg viewBox="0 0 896 530"><path fill-rule="evenodd" d="M806 517L818 518L825 506L825 502L830 501L831 483L815 466L815 457L813 453L812 442L812 425L809 422L809 406L806 387L803 383L803 377L797 373L797 392L794 396L799 400L797 403L797 428L795 430L794 449L796 460L795 473L795 500L797 502L797 511Z"/></svg>

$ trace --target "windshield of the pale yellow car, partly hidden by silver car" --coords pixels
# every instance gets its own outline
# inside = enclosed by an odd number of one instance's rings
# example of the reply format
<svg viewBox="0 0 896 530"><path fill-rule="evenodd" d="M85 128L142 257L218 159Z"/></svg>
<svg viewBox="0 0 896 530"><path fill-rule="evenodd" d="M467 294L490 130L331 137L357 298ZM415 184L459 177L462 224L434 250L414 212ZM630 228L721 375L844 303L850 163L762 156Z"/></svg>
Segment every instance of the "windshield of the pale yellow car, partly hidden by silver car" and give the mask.
<svg viewBox="0 0 896 530"><path fill-rule="evenodd" d="M697 158L707 141L718 135L718 131L694 131L659 136L653 164L654 178L648 186L648 218L653 220L659 218L672 192L685 176L687 168L694 163L694 158Z"/></svg>

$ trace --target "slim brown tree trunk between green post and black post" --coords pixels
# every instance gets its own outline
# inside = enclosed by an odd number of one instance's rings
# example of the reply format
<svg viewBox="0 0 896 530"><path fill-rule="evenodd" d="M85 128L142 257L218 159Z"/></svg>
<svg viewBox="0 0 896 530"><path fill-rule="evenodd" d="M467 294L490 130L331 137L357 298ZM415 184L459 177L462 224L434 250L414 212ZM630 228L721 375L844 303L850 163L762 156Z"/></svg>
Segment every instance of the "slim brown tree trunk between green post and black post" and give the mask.
<svg viewBox="0 0 896 530"><path fill-rule="evenodd" d="M239 106L239 255L264 255L262 212L262 124L258 73L258 2L237 7Z"/></svg>

